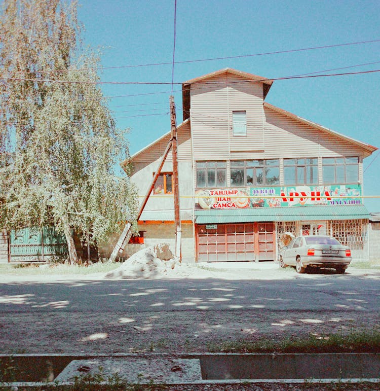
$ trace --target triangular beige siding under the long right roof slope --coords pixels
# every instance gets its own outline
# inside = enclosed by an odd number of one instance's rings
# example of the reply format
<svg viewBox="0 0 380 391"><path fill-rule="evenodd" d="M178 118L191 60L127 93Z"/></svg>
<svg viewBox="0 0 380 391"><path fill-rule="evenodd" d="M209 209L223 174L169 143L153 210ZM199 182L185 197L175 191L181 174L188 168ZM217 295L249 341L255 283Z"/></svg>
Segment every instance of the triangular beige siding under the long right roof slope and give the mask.
<svg viewBox="0 0 380 391"><path fill-rule="evenodd" d="M264 108L265 156L329 157L362 156L363 151L331 134Z"/></svg>

